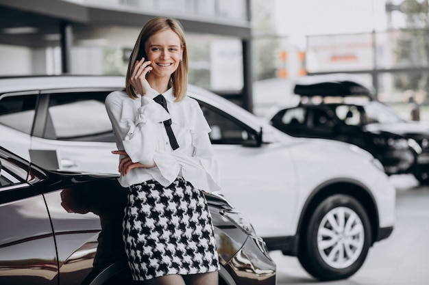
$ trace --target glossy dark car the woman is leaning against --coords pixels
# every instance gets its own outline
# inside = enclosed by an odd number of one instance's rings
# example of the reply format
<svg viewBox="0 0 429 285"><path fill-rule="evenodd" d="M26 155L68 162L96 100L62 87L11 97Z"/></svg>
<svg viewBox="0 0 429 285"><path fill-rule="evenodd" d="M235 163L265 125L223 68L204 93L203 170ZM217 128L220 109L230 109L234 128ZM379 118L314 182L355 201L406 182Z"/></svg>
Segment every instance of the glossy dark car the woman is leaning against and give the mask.
<svg viewBox="0 0 429 285"><path fill-rule="evenodd" d="M117 176L53 172L0 147L0 284L130 284ZM206 193L221 261L219 284L275 284L252 225Z"/></svg>

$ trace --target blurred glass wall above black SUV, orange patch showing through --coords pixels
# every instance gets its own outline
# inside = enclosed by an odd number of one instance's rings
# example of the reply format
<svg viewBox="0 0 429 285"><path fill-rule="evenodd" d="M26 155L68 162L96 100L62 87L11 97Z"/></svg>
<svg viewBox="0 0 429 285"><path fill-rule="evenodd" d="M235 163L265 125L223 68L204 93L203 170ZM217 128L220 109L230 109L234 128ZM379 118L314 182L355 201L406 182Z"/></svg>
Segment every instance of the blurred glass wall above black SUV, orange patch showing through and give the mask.
<svg viewBox="0 0 429 285"><path fill-rule="evenodd" d="M378 100L410 119L409 101L429 121L429 30L309 36L306 70L310 74L353 72L376 85ZM411 98L411 99L410 99Z"/></svg>

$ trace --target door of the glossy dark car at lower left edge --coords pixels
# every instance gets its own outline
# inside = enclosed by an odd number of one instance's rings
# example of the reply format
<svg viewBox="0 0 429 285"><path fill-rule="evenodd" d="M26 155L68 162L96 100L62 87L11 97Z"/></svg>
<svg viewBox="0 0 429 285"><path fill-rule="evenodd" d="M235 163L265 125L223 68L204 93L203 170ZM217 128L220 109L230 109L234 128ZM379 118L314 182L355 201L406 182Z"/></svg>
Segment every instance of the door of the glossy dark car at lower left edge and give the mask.
<svg viewBox="0 0 429 285"><path fill-rule="evenodd" d="M57 285L58 260L45 200L26 182L27 163L0 153L0 167L0 284Z"/></svg>

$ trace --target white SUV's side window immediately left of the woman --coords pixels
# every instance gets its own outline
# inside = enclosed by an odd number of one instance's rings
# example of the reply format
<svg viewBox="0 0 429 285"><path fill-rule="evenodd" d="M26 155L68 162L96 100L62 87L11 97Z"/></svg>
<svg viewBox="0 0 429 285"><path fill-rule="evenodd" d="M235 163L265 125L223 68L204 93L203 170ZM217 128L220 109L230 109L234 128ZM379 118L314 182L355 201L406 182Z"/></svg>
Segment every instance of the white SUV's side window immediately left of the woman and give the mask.
<svg viewBox="0 0 429 285"><path fill-rule="evenodd" d="M50 94L48 124L53 128L53 137L66 141L114 142L112 124L104 107L108 93Z"/></svg>

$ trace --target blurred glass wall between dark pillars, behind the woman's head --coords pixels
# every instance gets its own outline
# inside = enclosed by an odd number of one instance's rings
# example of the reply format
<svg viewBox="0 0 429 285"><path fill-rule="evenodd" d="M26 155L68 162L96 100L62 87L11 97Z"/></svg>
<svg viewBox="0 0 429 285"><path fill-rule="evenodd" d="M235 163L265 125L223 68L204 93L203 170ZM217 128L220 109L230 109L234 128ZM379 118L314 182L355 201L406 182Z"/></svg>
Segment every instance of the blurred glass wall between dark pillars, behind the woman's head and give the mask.
<svg viewBox="0 0 429 285"><path fill-rule="evenodd" d="M138 28L103 27L82 31L76 27L71 73L125 75L138 33ZM186 46L189 83L215 92L242 90L243 46L240 38L186 33Z"/></svg>

